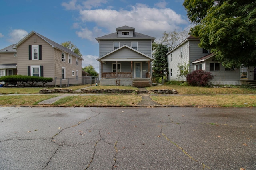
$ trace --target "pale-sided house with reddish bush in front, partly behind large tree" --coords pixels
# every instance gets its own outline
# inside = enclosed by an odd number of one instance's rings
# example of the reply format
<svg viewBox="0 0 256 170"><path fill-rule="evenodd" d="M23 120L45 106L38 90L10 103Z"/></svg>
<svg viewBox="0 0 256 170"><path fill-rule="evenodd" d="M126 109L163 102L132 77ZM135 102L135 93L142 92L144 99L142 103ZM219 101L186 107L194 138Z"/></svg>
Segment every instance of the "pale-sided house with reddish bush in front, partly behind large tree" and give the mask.
<svg viewBox="0 0 256 170"><path fill-rule="evenodd" d="M189 36L178 46L167 53L168 80L178 80L178 64L189 64L189 72L202 69L214 75L212 84L241 85L249 80L255 80L255 68L225 68L214 59L215 54L198 46L199 38ZM180 78L186 80L186 77Z"/></svg>

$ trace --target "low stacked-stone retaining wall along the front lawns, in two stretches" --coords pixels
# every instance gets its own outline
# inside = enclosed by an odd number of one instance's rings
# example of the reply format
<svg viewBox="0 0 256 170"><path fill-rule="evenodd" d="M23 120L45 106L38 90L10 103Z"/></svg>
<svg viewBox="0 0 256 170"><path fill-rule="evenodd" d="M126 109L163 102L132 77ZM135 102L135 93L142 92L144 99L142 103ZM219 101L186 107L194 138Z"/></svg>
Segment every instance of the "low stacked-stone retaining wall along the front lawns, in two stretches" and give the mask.
<svg viewBox="0 0 256 170"><path fill-rule="evenodd" d="M73 91L72 89L40 89L39 93L138 93L139 90L131 89L81 89L80 92ZM177 94L177 91L174 89L163 89L163 90L148 90L148 93L157 93L157 94Z"/></svg>

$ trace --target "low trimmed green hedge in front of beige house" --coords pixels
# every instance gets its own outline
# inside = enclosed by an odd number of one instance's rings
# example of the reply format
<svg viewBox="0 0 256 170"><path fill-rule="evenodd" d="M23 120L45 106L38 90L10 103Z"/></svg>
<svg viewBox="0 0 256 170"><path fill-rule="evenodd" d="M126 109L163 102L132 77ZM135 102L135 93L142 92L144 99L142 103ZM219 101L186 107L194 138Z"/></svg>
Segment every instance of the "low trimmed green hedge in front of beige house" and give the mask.
<svg viewBox="0 0 256 170"><path fill-rule="evenodd" d="M48 77L37 77L37 76L23 76L23 75L13 75L13 76L2 76L0 77L0 82L5 82L5 84L12 86L36 86L38 82L42 83L43 86L52 82L52 78Z"/></svg>

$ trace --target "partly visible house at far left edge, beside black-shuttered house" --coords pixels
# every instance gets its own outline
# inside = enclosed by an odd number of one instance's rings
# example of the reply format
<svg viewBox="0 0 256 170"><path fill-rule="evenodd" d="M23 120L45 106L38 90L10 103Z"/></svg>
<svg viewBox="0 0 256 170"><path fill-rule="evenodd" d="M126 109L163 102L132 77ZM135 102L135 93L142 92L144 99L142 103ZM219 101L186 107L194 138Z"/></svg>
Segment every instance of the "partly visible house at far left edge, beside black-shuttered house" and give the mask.
<svg viewBox="0 0 256 170"><path fill-rule="evenodd" d="M14 45L0 50L0 77L17 74L17 51Z"/></svg>

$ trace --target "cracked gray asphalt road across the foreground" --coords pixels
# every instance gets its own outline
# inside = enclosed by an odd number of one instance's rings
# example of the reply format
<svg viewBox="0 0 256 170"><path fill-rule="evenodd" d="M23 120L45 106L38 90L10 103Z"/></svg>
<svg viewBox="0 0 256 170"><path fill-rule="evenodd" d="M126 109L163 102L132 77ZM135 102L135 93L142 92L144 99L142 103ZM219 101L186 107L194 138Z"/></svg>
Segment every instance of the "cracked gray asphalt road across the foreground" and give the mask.
<svg viewBox="0 0 256 170"><path fill-rule="evenodd" d="M0 107L1 170L256 169L256 108Z"/></svg>

